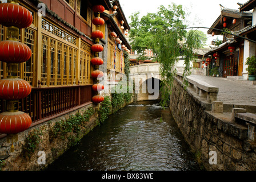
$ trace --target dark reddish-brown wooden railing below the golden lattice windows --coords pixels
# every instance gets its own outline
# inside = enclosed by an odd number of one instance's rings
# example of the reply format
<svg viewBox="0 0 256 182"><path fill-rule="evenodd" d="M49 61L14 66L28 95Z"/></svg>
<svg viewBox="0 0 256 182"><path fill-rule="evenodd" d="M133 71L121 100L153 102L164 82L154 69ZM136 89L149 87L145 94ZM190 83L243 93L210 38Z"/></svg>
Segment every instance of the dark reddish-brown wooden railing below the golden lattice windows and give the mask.
<svg viewBox="0 0 256 182"><path fill-rule="evenodd" d="M31 94L19 100L19 111L30 115L33 125L91 103L92 85L32 88ZM0 113L6 101L0 100Z"/></svg>

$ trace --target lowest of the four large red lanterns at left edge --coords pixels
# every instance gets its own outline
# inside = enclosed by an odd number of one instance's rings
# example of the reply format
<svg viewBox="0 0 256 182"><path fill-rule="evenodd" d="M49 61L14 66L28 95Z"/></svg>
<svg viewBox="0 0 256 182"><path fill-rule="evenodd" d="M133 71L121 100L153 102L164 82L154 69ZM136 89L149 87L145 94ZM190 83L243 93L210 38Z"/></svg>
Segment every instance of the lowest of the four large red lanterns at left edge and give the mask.
<svg viewBox="0 0 256 182"><path fill-rule="evenodd" d="M29 129L32 119L21 111L0 114L0 133L17 134Z"/></svg>

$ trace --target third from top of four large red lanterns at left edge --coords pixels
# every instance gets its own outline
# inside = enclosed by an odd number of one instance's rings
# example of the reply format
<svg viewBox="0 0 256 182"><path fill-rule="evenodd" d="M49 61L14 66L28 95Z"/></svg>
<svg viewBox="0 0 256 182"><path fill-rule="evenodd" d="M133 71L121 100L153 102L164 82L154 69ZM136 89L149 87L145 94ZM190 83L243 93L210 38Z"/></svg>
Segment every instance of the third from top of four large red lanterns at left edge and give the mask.
<svg viewBox="0 0 256 182"><path fill-rule="evenodd" d="M0 98L2 100L20 100L29 96L31 85L19 78L0 80Z"/></svg>

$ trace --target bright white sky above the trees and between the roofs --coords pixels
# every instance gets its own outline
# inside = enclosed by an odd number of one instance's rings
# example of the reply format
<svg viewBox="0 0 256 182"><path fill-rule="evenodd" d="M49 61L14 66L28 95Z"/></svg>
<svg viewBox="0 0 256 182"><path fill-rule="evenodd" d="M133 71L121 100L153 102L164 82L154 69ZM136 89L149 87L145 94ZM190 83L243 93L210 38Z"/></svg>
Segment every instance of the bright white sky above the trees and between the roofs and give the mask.
<svg viewBox="0 0 256 182"><path fill-rule="evenodd" d="M189 26L201 26L201 27L211 27L215 20L221 15L221 4L225 8L238 10L239 6L237 3L245 3L248 0L119 0L123 12L125 13L127 21L130 23L129 16L137 11L141 13L141 16L147 13L155 13L158 11L160 5L168 6L171 3L176 5L182 5L183 10L186 13L190 13L187 21L189 21ZM207 32L208 29L199 29L203 32ZM216 36L209 38L207 43L210 43L212 39L216 39Z"/></svg>

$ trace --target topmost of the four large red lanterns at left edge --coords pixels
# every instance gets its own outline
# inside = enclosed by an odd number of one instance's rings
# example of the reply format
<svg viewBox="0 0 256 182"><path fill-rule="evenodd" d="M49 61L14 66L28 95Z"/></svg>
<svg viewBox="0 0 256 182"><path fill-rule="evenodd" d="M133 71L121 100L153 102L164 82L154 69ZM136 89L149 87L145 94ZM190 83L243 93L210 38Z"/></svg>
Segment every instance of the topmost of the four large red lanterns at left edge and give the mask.
<svg viewBox="0 0 256 182"><path fill-rule="evenodd" d="M0 4L0 24L6 27L29 27L33 22L33 16L29 10L14 3Z"/></svg>

